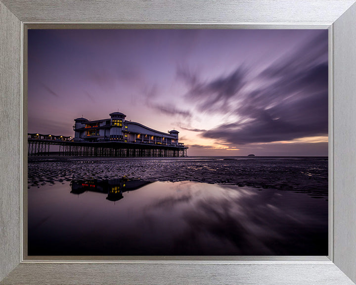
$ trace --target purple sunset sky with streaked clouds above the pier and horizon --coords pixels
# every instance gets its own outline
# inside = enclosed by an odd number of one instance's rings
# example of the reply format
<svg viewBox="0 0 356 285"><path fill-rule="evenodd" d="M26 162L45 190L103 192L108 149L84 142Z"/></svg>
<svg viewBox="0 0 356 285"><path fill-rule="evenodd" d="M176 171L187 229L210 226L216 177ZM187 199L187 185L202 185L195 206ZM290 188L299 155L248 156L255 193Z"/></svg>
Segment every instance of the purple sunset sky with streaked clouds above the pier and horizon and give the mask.
<svg viewBox="0 0 356 285"><path fill-rule="evenodd" d="M327 156L327 30L28 30L28 132L179 131L189 156Z"/></svg>

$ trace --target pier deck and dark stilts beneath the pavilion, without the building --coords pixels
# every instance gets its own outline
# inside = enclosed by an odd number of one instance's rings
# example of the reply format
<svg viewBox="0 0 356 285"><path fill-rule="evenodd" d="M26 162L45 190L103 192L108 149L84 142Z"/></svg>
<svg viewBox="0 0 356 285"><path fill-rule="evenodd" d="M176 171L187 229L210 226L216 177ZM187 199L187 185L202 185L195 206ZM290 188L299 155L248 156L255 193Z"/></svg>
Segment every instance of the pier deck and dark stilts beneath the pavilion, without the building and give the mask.
<svg viewBox="0 0 356 285"><path fill-rule="evenodd" d="M28 139L28 156L185 157L188 146L137 142L73 142ZM53 151L53 145L58 150Z"/></svg>

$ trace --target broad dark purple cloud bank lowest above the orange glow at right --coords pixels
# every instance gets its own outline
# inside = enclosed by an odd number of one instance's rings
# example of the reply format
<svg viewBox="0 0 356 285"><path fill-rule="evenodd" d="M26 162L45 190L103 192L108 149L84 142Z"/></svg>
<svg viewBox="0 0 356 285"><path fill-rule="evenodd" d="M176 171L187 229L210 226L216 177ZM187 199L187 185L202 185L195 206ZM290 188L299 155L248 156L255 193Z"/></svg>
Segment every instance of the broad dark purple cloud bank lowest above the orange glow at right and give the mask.
<svg viewBox="0 0 356 285"><path fill-rule="evenodd" d="M327 93L321 93L297 102L280 103L268 110L245 108L251 121L221 125L203 133L203 136L234 144L325 136L328 134L327 99Z"/></svg>

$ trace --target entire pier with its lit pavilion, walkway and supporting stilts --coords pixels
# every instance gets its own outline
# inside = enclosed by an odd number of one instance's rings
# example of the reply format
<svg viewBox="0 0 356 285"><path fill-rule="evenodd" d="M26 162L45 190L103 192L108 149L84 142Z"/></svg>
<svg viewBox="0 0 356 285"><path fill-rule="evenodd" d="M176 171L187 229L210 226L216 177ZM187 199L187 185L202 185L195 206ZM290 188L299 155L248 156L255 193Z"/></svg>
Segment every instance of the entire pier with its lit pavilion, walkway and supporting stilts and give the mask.
<svg viewBox="0 0 356 285"><path fill-rule="evenodd" d="M178 131L156 131L125 120L126 115L120 112L109 115L95 121L75 119L74 138L29 133L28 156L187 156L188 146L178 142Z"/></svg>

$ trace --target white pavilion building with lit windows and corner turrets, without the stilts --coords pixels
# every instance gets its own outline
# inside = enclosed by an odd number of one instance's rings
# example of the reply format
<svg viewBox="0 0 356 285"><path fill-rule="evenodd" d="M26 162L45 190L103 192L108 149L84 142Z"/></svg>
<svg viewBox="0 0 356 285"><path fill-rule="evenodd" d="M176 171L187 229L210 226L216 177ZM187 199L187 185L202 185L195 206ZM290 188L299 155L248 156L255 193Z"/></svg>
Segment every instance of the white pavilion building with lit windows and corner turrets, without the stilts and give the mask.
<svg viewBox="0 0 356 285"><path fill-rule="evenodd" d="M75 119L73 126L74 142L132 142L159 145L184 145L178 142L178 131L168 133L156 131L140 123L125 120L120 112L109 114L110 118L89 121L86 118Z"/></svg>

